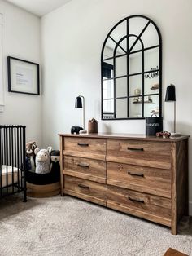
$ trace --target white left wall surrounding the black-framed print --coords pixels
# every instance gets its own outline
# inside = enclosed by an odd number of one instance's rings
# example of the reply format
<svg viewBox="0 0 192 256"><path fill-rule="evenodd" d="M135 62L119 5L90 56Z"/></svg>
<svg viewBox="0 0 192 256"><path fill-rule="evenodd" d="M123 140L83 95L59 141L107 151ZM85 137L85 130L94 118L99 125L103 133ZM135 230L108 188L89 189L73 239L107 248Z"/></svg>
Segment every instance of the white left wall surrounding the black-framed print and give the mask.
<svg viewBox="0 0 192 256"><path fill-rule="evenodd" d="M5 110L1 124L27 126L27 140L41 146L41 96L21 95L7 90L7 56L40 63L41 20L7 2L0 1L3 14L3 79Z"/></svg>

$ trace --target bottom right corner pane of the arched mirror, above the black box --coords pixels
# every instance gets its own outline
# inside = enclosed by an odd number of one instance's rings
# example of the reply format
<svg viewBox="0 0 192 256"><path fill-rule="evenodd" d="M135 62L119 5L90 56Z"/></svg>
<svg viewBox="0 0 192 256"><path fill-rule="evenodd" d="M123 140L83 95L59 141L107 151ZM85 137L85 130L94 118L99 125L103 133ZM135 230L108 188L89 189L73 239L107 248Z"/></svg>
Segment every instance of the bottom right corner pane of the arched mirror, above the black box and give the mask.
<svg viewBox="0 0 192 256"><path fill-rule="evenodd" d="M159 117L159 95L145 96L144 117L151 117L153 113Z"/></svg>

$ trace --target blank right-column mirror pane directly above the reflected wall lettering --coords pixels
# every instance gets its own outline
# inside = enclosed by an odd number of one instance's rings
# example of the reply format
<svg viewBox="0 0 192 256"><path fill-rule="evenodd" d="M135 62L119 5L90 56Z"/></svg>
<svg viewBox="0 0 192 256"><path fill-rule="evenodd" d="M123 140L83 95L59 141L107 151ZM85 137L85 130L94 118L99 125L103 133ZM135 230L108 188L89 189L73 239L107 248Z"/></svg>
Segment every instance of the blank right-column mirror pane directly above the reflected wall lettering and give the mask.
<svg viewBox="0 0 192 256"><path fill-rule="evenodd" d="M159 47L144 52L145 71L150 71L151 68L159 69Z"/></svg>

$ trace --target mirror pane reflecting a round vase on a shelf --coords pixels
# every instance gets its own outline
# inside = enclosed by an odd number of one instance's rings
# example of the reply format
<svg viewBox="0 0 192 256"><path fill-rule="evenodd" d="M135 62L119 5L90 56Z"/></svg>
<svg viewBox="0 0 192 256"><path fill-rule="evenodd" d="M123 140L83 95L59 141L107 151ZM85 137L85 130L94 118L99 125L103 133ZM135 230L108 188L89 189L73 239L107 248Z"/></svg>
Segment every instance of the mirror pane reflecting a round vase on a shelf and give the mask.
<svg viewBox="0 0 192 256"><path fill-rule="evenodd" d="M142 95L142 75L129 77L129 96Z"/></svg>

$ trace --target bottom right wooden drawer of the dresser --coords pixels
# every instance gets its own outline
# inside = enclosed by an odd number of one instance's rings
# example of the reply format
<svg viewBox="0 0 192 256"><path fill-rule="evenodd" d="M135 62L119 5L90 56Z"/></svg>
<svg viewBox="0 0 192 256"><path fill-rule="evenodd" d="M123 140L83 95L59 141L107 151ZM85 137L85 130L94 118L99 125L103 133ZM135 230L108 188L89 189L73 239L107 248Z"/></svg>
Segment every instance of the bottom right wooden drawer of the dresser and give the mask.
<svg viewBox="0 0 192 256"><path fill-rule="evenodd" d="M171 225L171 200L168 198L107 185L107 206L166 226Z"/></svg>

